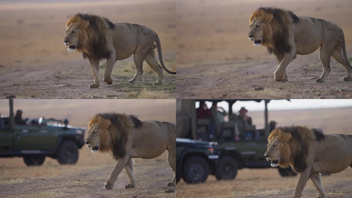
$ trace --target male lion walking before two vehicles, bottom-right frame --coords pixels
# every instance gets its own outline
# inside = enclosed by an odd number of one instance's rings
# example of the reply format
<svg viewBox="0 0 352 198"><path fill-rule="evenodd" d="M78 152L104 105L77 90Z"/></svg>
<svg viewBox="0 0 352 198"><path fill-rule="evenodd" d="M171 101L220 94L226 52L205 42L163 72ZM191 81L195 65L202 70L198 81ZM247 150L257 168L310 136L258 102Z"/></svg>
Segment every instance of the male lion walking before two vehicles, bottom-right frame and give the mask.
<svg viewBox="0 0 352 198"><path fill-rule="evenodd" d="M271 132L264 156L271 166L291 167L300 174L293 198L301 197L307 180L313 181L325 198L319 173L339 173L352 168L352 135L323 135L320 129L305 126L283 126Z"/></svg>

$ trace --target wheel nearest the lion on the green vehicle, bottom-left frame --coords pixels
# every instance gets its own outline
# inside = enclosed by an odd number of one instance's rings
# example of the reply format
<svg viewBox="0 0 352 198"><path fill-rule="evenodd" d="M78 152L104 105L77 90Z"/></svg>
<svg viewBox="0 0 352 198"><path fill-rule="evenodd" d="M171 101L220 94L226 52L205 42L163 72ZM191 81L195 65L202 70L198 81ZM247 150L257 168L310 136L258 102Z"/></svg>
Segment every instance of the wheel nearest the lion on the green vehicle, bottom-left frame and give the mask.
<svg viewBox="0 0 352 198"><path fill-rule="evenodd" d="M60 164L75 164L78 160L78 147L72 141L61 144L57 153L57 161Z"/></svg>

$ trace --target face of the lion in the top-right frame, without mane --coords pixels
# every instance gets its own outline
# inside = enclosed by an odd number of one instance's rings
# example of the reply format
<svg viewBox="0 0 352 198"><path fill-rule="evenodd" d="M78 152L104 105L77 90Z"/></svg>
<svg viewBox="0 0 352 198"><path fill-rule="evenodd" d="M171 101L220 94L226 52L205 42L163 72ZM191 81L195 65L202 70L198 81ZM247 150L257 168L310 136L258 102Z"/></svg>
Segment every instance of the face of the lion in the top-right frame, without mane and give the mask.
<svg viewBox="0 0 352 198"><path fill-rule="evenodd" d="M262 44L263 38L266 36L264 35L266 26L266 23L261 19L253 19L251 21L248 37L253 41L254 46Z"/></svg>

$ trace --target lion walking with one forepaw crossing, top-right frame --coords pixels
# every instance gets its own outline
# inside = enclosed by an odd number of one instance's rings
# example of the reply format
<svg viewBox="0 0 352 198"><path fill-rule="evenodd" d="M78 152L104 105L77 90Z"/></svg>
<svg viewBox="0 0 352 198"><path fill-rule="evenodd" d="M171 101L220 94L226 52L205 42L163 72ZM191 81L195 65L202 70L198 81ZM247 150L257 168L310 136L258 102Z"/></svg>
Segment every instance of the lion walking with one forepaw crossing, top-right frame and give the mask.
<svg viewBox="0 0 352 198"><path fill-rule="evenodd" d="M345 36L342 29L327 20L312 17L297 17L293 12L276 7L260 7L253 12L249 38L254 46L263 45L279 63L274 79L287 82L287 66L297 54L307 55L320 47L323 73L316 82L325 82L330 73L330 58L346 69L342 81L352 80L352 67L346 54Z"/></svg>

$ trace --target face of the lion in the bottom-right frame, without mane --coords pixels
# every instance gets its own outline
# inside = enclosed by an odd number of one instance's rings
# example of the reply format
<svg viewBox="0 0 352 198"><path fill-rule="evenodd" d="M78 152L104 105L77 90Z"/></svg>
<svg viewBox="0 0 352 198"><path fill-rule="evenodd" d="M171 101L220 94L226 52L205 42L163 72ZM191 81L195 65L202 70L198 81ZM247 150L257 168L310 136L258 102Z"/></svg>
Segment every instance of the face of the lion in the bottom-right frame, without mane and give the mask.
<svg viewBox="0 0 352 198"><path fill-rule="evenodd" d="M279 140L278 137L273 138L268 143L268 149L266 149L264 156L266 157L267 161L271 161L272 167L276 167L279 165L279 161L281 158L281 150L283 146L284 143Z"/></svg>

